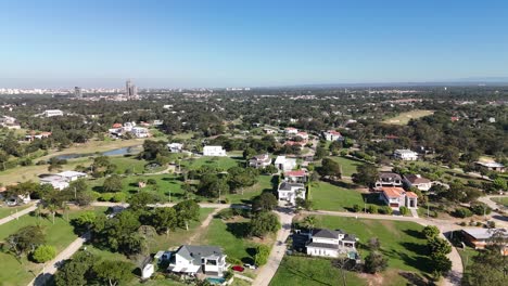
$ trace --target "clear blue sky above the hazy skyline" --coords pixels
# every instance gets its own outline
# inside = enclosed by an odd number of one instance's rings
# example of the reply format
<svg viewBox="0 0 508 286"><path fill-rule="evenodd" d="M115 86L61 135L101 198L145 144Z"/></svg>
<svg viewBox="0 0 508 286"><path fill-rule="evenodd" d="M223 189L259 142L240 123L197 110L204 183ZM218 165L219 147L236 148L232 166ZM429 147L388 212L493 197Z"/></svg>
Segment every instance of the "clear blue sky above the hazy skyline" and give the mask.
<svg viewBox="0 0 508 286"><path fill-rule="evenodd" d="M0 87L506 76L503 0L0 0Z"/></svg>

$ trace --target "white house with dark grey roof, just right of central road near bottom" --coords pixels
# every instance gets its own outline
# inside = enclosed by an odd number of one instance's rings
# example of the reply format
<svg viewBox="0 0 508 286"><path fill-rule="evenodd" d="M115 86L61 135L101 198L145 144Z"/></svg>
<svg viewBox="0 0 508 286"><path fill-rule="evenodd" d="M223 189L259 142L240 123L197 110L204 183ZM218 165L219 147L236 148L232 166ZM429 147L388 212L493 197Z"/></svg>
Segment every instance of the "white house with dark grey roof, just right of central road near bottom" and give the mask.
<svg viewBox="0 0 508 286"><path fill-rule="evenodd" d="M356 236L341 230L313 230L308 235L306 252L309 256L339 257L350 251L356 252Z"/></svg>

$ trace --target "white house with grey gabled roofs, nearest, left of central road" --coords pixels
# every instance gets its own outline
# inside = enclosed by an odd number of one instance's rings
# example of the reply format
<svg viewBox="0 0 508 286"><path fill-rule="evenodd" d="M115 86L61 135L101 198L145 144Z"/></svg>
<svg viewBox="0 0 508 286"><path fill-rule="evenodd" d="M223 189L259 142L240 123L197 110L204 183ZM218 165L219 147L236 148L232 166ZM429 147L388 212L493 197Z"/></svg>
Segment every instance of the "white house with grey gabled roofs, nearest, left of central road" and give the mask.
<svg viewBox="0 0 508 286"><path fill-rule="evenodd" d="M221 277L228 268L226 257L216 246L183 245L172 257L167 270L192 276L203 273Z"/></svg>

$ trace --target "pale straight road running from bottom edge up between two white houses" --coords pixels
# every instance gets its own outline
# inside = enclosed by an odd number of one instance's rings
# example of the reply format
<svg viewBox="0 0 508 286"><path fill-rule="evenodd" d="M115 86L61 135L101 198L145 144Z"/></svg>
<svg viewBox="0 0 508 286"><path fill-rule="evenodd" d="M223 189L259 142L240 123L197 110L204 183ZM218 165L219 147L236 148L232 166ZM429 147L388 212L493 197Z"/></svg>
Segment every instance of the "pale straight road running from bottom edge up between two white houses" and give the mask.
<svg viewBox="0 0 508 286"><path fill-rule="evenodd" d="M284 257L287 249L285 240L291 233L291 222L293 221L294 213L288 208L279 208L276 213L280 218L282 227L277 232L277 240L271 248L268 262L264 266L259 268L259 272L252 285L268 286L276 274L282 258Z"/></svg>

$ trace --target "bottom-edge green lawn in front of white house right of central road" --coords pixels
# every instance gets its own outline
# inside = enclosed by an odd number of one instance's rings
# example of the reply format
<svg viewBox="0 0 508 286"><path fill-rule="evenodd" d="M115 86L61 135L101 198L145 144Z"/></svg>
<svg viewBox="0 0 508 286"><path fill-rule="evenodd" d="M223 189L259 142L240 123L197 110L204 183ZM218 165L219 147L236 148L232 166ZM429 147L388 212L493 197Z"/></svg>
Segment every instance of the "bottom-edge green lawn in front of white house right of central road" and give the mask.
<svg viewBox="0 0 508 286"><path fill-rule="evenodd" d="M367 285L355 273L346 271L347 285ZM322 286L342 285L339 269L331 265L331 260L285 256L270 282L270 286Z"/></svg>

